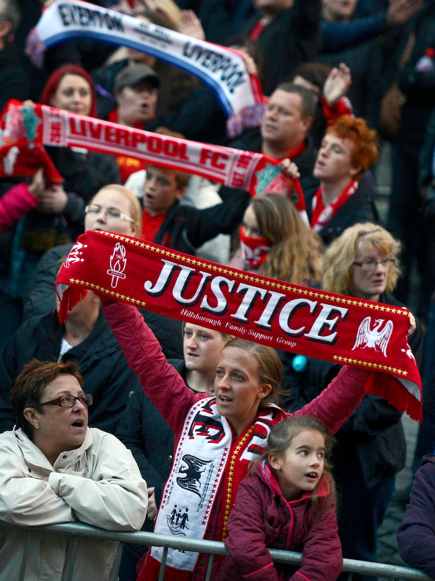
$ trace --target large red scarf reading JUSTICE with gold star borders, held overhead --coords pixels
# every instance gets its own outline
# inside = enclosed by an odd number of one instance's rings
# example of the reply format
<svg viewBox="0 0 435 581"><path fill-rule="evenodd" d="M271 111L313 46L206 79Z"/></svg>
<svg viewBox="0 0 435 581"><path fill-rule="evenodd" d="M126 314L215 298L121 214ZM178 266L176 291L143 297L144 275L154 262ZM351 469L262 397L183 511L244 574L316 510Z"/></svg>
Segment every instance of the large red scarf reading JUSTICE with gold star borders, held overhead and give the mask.
<svg viewBox="0 0 435 581"><path fill-rule="evenodd" d="M276 281L113 232L85 232L68 254L56 281L61 322L86 289L276 349L368 368L365 389L421 419L404 307Z"/></svg>

